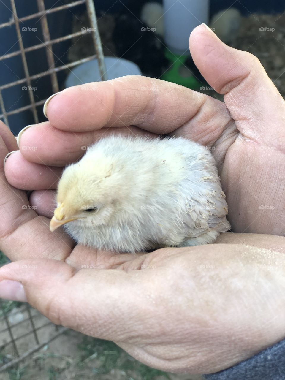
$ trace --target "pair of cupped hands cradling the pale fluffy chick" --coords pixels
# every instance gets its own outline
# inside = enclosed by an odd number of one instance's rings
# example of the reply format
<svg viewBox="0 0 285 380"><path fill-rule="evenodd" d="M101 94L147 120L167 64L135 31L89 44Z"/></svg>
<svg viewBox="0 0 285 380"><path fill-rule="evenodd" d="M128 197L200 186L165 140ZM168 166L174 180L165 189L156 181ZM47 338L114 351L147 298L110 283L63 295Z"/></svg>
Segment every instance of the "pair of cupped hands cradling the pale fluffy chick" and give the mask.
<svg viewBox="0 0 285 380"><path fill-rule="evenodd" d="M8 282L0 292L26 296L55 323L114 340L151 366L206 373L284 337L284 238L228 234L221 242L234 244L117 255L74 246L49 231L47 218L62 168L82 147L109 133L169 134L212 148L234 231L284 234L282 97L255 57L204 26L192 32L190 50L225 103L125 77L63 90L47 105L49 121L21 134L5 164L9 183L2 171L0 248L24 261L1 269ZM4 159L15 139L3 125L0 132ZM30 203L18 188L35 190ZM270 250L240 245L250 239Z"/></svg>

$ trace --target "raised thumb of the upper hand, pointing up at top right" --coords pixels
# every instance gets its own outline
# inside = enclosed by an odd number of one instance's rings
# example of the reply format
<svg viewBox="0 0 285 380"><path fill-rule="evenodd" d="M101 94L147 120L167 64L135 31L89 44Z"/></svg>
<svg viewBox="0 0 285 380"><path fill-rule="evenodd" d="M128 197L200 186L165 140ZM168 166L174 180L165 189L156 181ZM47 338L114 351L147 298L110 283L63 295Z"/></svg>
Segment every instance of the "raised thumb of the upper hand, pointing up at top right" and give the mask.
<svg viewBox="0 0 285 380"><path fill-rule="evenodd" d="M285 131L279 126L283 125L284 100L259 60L227 46L204 25L191 33L190 51L207 82L225 95L226 106L242 135L283 149Z"/></svg>

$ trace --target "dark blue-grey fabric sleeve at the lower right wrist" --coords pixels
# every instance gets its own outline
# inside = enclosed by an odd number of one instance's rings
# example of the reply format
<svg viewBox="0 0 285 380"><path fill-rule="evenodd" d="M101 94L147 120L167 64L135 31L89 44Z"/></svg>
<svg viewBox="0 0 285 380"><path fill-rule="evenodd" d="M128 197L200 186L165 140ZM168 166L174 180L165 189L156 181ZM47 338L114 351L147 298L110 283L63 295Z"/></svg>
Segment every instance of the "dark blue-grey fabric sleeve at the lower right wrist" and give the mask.
<svg viewBox="0 0 285 380"><path fill-rule="evenodd" d="M285 340L207 380L285 380Z"/></svg>

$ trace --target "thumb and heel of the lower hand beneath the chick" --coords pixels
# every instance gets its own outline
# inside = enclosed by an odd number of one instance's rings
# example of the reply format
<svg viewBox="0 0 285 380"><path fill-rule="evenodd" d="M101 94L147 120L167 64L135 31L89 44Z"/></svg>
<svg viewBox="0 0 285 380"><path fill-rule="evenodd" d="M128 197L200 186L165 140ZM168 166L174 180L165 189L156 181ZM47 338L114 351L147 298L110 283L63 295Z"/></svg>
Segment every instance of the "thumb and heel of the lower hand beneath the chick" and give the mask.
<svg viewBox="0 0 285 380"><path fill-rule="evenodd" d="M26 296L52 322L171 372L216 372L284 337L284 253L212 244L157 250L109 269L83 251L78 264L15 261L0 270L0 292Z"/></svg>

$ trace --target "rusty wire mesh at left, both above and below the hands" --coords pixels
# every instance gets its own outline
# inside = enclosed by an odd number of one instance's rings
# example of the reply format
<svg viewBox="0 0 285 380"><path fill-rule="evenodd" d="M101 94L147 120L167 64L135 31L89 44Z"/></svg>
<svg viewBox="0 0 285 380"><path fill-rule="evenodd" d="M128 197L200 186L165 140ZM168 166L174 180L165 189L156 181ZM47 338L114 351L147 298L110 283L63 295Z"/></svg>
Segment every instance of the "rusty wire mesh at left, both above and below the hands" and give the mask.
<svg viewBox="0 0 285 380"><path fill-rule="evenodd" d="M11 27L14 26L16 33L17 33L17 39L18 39L18 44L19 44L19 49L15 52L8 53L5 55L0 56L0 61L4 61L6 59L16 57L16 56L21 56L23 68L24 68L24 73L25 77L22 79L19 79L17 81L9 82L6 84L3 84L0 86L0 107L2 110L2 114L0 114L0 118L3 118L5 123L9 126L9 120L8 117L14 114L19 114L20 112L24 112L26 110L31 110L33 114L33 119L34 122L38 122L38 115L37 115L37 110L36 108L38 106L42 106L43 103L46 101L46 99L51 95L49 93L46 94L46 97L44 99L41 99L39 101L35 101L34 94L32 91L32 81L35 79L39 79L43 76L49 76L51 79L51 87L53 92L58 92L59 89L59 82L57 78L57 73L60 71L63 71L67 68L74 67L76 65L79 65L80 63L84 63L90 60L93 60L97 58L98 61L98 67L100 70L100 75L101 75L101 80L106 80L106 68L105 68L105 62L104 62L104 55L103 55L103 49L101 45L101 40L98 32L98 27L97 27L97 18L96 18L96 13L95 13L95 8L93 4L93 0L78 0L78 1L73 1L65 5L61 5L52 9L45 9L44 6L44 0L36 0L37 6L38 6L38 12L34 14L30 14L25 17L18 18L17 17L17 10L16 10L16 5L14 0L11 1L11 9L12 9L12 14L11 18L8 22L4 22L0 24L0 29L5 28L5 27ZM76 32L76 33L71 33L69 35L65 35L62 37L54 38L51 40L50 32L49 32L49 25L47 21L47 14L53 14L55 12L61 11L63 9L69 9L69 8L74 8L78 5L84 4L86 5L87 9L87 14L89 17L89 22L90 22L90 28L87 30L82 30L81 32ZM24 48L23 43L22 43L22 36L21 36L21 28L20 28L20 23L24 21L28 21L31 19L40 19L41 22L41 28L43 32L43 39L44 41L41 42L40 44L36 44L31 47ZM93 41L93 46L95 49L95 55L91 55L89 57L85 57L83 59L70 62L64 65L61 65L59 67L55 67L55 59L54 59L54 53L53 53L53 46L54 44L60 43L62 41L67 41L70 40L74 37L78 36L83 36L86 34L92 33L92 41ZM30 75L29 68L28 68L28 63L26 59L26 53L31 52L31 51L36 51L38 49L44 48L46 52L46 60L48 64L48 70L46 71L41 71L40 73ZM29 99L30 99L30 104L23 106L21 108L17 108L11 111L6 112L5 109L5 99L3 98L2 95L2 90L17 86L19 84L27 84L28 85L28 94L29 94ZM8 369L9 367L12 367L16 364L18 364L20 361L24 360L28 356L32 355L32 353L36 352L37 350L40 350L42 347L45 345L49 344L52 340L54 340L56 337L58 337L60 334L65 332L67 328L58 328L58 326L55 326L55 332L54 334L48 339L45 340L44 342L41 342L38 336L38 330L48 326L52 325L51 322L47 322L44 325L40 327L36 327L34 323L34 319L37 318L40 313L37 314L32 314L31 313L31 308L30 306L26 306L26 312L27 312L27 318L25 318L22 321L16 322L14 324L11 324L8 318L8 314L5 312L5 308L3 307L3 302L0 299L0 310L2 311L2 318L0 317L0 320L5 321L6 328L2 329L0 331L0 334L4 332L8 332L9 335L9 340L6 342L4 345L2 345L2 349L5 348L8 345L11 345L13 347L13 352L14 352L14 358L9 361L8 363L4 363L0 367L0 372L3 372L4 370ZM16 312L9 313L9 316L16 314ZM21 325L24 322L30 322L30 330L28 330L25 334L22 334L21 336L14 336L13 329L17 328L17 326ZM17 340L20 338L23 338L27 335L33 334L34 339L35 339L35 346L31 348L28 351L25 351L24 353L20 353L19 349L17 347ZM2 352L3 353L3 352Z"/></svg>

